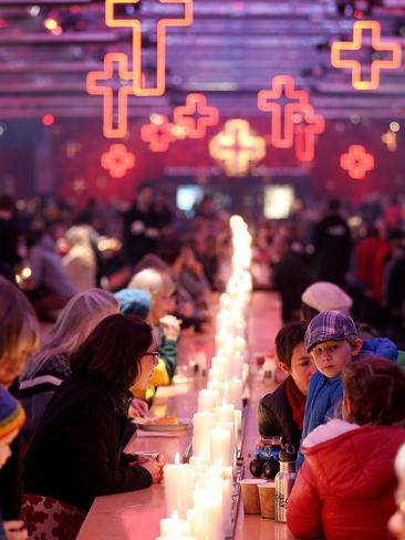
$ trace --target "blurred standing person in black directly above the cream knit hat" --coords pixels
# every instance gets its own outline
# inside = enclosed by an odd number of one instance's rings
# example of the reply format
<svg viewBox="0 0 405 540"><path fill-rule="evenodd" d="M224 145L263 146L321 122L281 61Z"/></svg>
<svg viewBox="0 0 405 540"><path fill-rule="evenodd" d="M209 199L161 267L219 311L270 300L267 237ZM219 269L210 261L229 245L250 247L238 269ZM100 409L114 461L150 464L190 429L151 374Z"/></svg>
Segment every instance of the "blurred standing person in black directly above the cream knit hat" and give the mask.
<svg viewBox="0 0 405 540"><path fill-rule="evenodd" d="M352 253L352 236L341 215L341 201L331 199L325 216L315 225L313 235L319 281L344 287Z"/></svg>

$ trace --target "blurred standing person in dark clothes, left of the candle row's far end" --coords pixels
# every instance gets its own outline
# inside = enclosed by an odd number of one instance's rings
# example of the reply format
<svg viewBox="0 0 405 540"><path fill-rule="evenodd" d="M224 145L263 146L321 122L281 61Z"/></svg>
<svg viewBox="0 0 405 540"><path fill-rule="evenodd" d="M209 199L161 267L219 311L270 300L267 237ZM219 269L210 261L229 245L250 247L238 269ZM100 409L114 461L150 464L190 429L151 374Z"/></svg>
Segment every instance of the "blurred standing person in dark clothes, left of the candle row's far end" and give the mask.
<svg viewBox="0 0 405 540"><path fill-rule="evenodd" d="M160 229L154 191L150 185L144 184L139 186L134 202L124 214L123 248L132 269L145 255L155 252Z"/></svg>

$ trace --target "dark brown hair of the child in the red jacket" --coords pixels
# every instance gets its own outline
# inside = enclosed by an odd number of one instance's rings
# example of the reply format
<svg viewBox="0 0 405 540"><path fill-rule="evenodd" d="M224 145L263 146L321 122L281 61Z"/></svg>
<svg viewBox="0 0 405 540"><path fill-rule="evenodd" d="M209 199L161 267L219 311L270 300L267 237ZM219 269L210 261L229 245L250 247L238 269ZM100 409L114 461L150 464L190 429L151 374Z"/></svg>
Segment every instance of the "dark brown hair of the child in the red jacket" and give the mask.
<svg viewBox="0 0 405 540"><path fill-rule="evenodd" d="M359 425L405 427L405 373L377 356L353 362L343 372L346 420Z"/></svg>

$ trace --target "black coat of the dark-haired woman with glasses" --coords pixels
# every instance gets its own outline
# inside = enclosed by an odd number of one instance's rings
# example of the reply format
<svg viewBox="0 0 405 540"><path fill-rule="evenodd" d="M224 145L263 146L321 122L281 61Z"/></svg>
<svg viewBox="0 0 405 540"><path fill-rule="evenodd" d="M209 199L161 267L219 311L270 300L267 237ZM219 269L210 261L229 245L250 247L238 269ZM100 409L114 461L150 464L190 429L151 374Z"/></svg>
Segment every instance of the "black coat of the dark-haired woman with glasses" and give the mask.
<svg viewBox="0 0 405 540"><path fill-rule="evenodd" d="M121 453L129 398L76 372L56 390L24 459L24 490L87 511L95 497L149 487Z"/></svg>

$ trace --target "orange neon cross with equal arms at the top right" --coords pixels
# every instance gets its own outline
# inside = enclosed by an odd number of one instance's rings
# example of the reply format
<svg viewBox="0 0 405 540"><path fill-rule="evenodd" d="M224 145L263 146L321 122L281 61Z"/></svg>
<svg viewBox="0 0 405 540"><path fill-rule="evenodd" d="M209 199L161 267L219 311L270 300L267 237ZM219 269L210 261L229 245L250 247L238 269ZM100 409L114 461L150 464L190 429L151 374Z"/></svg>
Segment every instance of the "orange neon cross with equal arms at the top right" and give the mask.
<svg viewBox="0 0 405 540"><path fill-rule="evenodd" d="M371 32L371 46L374 52L391 53L391 59L373 60L370 77L362 79L362 63L359 60L342 59L342 52L361 51L364 46L363 33ZM332 44L331 62L334 68L347 68L352 71L352 85L357 90L375 90L380 86L380 70L395 70L401 66L402 49L399 43L381 41L381 24L377 21L356 21L353 28L353 41L336 41Z"/></svg>

